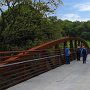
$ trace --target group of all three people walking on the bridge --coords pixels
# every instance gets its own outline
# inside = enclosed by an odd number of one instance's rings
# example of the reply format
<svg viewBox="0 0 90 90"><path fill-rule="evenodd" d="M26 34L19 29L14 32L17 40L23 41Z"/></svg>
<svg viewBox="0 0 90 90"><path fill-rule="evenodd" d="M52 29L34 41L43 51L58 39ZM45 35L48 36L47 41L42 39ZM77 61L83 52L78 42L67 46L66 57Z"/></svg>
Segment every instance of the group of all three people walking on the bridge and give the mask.
<svg viewBox="0 0 90 90"><path fill-rule="evenodd" d="M80 58L82 57L83 59L83 64L86 63L86 58L87 58L87 49L85 46L78 46L76 49L76 56L77 56L77 61L80 61ZM65 57L66 57L66 64L70 64L70 50L66 46L65 47Z"/></svg>

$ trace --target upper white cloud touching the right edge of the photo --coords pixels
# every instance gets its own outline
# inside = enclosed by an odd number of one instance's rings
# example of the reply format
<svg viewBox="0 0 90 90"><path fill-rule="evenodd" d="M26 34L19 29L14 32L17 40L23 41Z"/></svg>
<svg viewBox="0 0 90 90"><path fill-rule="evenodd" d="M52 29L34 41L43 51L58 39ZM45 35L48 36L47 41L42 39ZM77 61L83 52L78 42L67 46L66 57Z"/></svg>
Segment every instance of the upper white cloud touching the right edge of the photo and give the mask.
<svg viewBox="0 0 90 90"><path fill-rule="evenodd" d="M77 4L74 6L78 11L90 11L90 3Z"/></svg>

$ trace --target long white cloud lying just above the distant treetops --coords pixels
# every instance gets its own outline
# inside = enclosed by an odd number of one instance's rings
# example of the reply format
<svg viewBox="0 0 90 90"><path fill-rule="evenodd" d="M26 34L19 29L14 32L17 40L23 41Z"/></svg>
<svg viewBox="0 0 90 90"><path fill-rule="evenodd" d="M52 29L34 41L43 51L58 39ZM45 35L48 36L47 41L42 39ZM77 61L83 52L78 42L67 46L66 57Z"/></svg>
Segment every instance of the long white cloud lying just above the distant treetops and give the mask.
<svg viewBox="0 0 90 90"><path fill-rule="evenodd" d="M62 20L70 20L70 21L88 21L88 20L90 20L90 18L81 18L78 14L74 14L74 13L62 14L62 15L58 15L57 17Z"/></svg>

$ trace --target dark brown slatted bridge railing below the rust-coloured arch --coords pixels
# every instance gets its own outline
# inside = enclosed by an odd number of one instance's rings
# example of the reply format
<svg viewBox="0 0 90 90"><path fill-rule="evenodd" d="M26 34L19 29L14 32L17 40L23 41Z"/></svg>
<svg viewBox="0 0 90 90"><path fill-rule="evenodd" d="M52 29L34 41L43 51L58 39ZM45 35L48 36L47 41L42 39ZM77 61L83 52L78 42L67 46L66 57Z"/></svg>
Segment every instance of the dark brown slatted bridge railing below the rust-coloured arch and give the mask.
<svg viewBox="0 0 90 90"><path fill-rule="evenodd" d="M71 61L75 59L75 55L75 50L72 49ZM18 62L0 66L0 90L9 88L63 64L65 64L64 50L29 52L24 57L21 57Z"/></svg>

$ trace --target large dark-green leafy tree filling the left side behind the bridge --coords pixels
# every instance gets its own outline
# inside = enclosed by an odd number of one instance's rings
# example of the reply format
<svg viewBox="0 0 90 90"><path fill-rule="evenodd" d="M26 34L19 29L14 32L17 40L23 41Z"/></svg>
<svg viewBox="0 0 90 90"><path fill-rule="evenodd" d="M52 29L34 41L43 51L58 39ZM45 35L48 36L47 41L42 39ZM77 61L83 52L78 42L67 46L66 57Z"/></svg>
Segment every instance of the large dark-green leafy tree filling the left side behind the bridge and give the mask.
<svg viewBox="0 0 90 90"><path fill-rule="evenodd" d="M10 4L11 1L12 4ZM52 21L46 17L46 14L53 11L49 7L50 4L57 7L60 1L52 1L49 0L47 3L47 1L40 0L16 0L15 2L13 0L4 2L3 0L0 2L0 4L8 6L8 9L2 12L0 17L1 49L22 50L55 39L54 32L57 29L53 26L57 19Z"/></svg>

